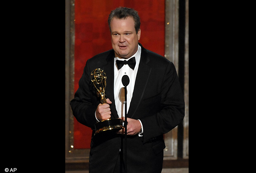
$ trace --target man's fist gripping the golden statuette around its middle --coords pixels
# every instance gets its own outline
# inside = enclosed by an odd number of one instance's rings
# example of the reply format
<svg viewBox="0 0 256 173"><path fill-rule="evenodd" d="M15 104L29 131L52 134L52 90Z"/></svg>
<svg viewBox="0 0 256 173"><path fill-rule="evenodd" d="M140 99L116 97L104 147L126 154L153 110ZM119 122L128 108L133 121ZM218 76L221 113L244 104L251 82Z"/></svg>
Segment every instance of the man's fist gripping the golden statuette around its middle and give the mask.
<svg viewBox="0 0 256 173"><path fill-rule="evenodd" d="M107 103L105 103L105 104L100 103L97 107L96 118L99 121L106 120L106 119L109 119L111 117L109 104L111 104L112 102L108 98L106 100L107 100Z"/></svg>

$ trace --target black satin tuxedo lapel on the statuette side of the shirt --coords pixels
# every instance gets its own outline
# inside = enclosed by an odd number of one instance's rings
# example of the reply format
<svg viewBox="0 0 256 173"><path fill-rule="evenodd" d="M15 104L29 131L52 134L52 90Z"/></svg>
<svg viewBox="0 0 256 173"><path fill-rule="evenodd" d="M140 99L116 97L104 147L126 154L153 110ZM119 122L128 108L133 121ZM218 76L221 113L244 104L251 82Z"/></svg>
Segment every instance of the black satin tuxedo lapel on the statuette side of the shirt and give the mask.
<svg viewBox="0 0 256 173"><path fill-rule="evenodd" d="M114 50L108 55L106 60L107 64L102 67L107 76L105 95L106 98L109 98L109 100L112 102L110 105L112 115L114 116L114 118L119 118L116 111L116 104L114 99Z"/></svg>

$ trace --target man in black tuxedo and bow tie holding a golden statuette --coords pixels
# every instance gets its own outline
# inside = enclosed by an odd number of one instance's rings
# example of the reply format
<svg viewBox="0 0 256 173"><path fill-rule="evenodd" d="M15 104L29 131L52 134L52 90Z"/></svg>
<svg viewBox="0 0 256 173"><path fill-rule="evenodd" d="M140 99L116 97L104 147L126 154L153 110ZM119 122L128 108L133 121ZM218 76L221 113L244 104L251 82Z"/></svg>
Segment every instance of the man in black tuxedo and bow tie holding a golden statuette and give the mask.
<svg viewBox="0 0 256 173"><path fill-rule="evenodd" d="M127 172L161 173L164 157L163 134L184 118L185 103L172 62L142 47L140 17L134 9L119 7L109 14L113 49L86 62L79 88L70 102L78 122L92 128L90 173L121 173L124 170L124 131L101 132L94 124L122 118L123 75L127 86ZM127 62L126 62L127 61ZM107 103L101 104L90 73L96 68L107 76Z"/></svg>

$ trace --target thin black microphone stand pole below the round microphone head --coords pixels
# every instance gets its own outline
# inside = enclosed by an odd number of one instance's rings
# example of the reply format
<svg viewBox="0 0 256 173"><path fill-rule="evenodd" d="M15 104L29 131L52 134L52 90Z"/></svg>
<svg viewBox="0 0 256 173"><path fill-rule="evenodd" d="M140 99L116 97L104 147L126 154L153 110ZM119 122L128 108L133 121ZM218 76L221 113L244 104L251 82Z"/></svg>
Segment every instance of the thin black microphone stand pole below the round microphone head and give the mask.
<svg viewBox="0 0 256 173"><path fill-rule="evenodd" d="M124 120L124 163L125 163L125 173L127 173L127 88L124 86L124 98L125 98L125 120Z"/></svg>

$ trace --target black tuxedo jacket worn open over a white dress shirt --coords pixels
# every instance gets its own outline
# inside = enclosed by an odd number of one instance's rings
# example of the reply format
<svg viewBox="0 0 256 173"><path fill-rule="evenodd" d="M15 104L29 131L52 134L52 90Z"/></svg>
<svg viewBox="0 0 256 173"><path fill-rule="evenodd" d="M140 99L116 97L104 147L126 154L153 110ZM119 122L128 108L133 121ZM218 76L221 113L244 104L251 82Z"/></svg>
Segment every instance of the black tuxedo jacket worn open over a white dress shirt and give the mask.
<svg viewBox="0 0 256 173"><path fill-rule="evenodd" d="M183 120L185 103L173 63L140 46L140 64L127 117L140 119L144 132L142 137L127 137L127 170L128 173L161 173L165 148L163 134ZM95 111L100 98L97 97L90 73L96 68L106 73L105 95L112 102L111 118L118 118L114 101L114 56L111 49L88 59L79 88L70 102L78 122L93 130L90 173L112 173L120 149L121 153L123 151L123 136L115 133L93 135L94 124L97 123Z"/></svg>

